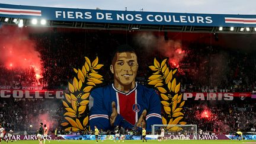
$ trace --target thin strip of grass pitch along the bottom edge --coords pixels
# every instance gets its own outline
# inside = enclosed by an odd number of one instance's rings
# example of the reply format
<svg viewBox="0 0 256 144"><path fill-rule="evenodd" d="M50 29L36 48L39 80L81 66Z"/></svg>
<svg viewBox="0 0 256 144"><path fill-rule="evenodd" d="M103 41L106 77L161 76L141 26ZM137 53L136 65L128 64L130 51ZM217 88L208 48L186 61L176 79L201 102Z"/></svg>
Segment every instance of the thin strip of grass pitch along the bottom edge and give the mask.
<svg viewBox="0 0 256 144"><path fill-rule="evenodd" d="M6 143L2 142L1 144ZM8 143L13 143L13 144L20 144L20 143L26 143L26 144L38 144L38 140L18 140L17 142L8 142ZM76 143L96 143L95 140L62 140L60 142L57 142L56 140L52 140L50 143L46 141L46 144L76 144ZM113 140L105 140L104 142L98 142L98 144L105 144L105 143L115 143ZM116 142L118 143L118 142ZM122 142L120 142L122 143ZM141 144L142 140L126 140L124 143L133 143L133 144ZM227 144L227 143L256 143L256 140L167 140L167 141L162 141L158 142L157 140L148 140L148 142L144 143L164 143L164 144L171 144L171 143L178 143L178 144L183 144L183 143L193 143L193 144L207 144L207 143L212 143L212 144Z"/></svg>

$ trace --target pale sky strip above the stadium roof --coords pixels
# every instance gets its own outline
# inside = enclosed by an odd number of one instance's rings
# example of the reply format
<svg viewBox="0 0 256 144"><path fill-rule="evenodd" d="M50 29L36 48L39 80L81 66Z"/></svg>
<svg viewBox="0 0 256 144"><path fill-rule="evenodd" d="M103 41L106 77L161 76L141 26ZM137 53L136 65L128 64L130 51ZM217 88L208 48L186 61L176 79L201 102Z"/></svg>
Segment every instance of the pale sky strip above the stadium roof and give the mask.
<svg viewBox="0 0 256 144"><path fill-rule="evenodd" d="M200 14L255 14L256 0L0 0L2 4Z"/></svg>

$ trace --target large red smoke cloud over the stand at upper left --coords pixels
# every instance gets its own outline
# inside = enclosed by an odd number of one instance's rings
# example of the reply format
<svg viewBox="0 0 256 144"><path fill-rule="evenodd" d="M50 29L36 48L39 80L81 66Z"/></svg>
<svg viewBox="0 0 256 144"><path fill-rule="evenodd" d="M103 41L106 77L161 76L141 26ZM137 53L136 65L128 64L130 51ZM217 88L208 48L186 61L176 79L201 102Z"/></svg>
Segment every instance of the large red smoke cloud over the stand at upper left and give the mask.
<svg viewBox="0 0 256 144"><path fill-rule="evenodd" d="M37 81L42 77L40 53L24 28L0 28L0 64L7 69L34 69Z"/></svg>

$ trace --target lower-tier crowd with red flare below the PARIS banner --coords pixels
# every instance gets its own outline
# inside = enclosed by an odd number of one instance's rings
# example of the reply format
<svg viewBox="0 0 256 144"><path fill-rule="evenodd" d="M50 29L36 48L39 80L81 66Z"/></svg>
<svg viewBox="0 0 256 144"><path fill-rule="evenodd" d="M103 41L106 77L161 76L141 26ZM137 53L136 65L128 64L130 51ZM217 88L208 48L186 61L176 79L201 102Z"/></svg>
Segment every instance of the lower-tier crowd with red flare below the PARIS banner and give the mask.
<svg viewBox="0 0 256 144"><path fill-rule="evenodd" d="M239 101L239 100L236 100ZM184 107L185 121L197 124L203 132L232 133L255 132L256 104L240 100L239 102L187 103Z"/></svg>

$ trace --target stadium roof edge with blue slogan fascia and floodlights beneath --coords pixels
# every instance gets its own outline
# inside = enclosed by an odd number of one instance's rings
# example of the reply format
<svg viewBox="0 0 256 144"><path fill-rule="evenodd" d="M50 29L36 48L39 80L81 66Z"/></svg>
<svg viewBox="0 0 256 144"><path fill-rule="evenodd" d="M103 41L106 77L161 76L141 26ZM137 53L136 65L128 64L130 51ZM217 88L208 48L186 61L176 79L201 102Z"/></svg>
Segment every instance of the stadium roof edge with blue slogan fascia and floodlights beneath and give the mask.
<svg viewBox="0 0 256 144"><path fill-rule="evenodd" d="M43 21L38 24L37 21ZM256 15L108 11L0 4L0 23L104 30L256 33Z"/></svg>

